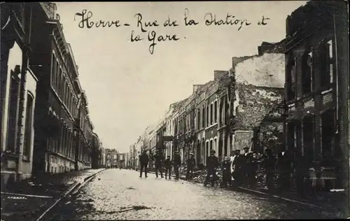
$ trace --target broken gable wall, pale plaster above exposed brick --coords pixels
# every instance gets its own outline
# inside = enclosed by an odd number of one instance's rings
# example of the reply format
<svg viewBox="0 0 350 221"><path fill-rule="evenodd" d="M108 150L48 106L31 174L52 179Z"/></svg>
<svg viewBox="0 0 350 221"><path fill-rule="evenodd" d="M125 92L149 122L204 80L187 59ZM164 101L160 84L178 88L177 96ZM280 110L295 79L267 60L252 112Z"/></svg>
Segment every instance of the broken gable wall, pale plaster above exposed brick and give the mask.
<svg viewBox="0 0 350 221"><path fill-rule="evenodd" d="M237 58L236 58L237 60ZM234 102L235 135L233 149L242 150L253 145L253 130L278 104L284 93L284 55L265 53L261 56L244 57L234 62L235 93ZM274 130L276 127L264 127ZM266 131L270 134L270 131Z"/></svg>

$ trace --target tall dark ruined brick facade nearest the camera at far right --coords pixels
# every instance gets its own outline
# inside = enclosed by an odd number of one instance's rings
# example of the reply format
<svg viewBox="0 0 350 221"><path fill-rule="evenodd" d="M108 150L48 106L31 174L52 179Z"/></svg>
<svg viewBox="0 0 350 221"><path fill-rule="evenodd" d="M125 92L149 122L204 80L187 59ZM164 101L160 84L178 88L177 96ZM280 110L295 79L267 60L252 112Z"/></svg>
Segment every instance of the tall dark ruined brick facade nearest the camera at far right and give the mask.
<svg viewBox="0 0 350 221"><path fill-rule="evenodd" d="M286 142L349 190L346 3L309 1L286 20ZM307 21L307 22L305 22ZM316 28L321 27L321 28ZM321 166L321 167L320 167Z"/></svg>

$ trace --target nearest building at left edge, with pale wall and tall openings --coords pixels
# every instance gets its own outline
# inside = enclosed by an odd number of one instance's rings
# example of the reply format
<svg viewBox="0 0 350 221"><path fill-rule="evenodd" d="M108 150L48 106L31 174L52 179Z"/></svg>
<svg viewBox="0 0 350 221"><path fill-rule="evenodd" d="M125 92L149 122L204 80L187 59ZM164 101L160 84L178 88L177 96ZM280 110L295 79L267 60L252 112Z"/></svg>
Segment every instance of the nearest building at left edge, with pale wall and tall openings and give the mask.
<svg viewBox="0 0 350 221"><path fill-rule="evenodd" d="M29 178L34 147L38 76L31 59L31 34L39 29L29 3L1 3L1 186Z"/></svg>

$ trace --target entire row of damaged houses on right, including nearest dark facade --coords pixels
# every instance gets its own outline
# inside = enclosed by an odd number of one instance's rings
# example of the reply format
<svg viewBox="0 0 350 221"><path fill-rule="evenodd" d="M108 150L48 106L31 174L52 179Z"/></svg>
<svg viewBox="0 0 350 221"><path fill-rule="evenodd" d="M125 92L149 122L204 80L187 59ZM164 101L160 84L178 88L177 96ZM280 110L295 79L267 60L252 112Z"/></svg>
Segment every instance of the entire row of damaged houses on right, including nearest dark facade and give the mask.
<svg viewBox="0 0 350 221"><path fill-rule="evenodd" d="M310 169L328 166L349 190L349 66L346 4L309 1L286 18L286 38L263 42L258 55L233 57L232 68L193 85L190 97L169 106L160 122L130 146L137 155L160 149L206 164L244 147L286 147ZM279 145L282 143L283 145ZM329 162L332 162L330 165Z"/></svg>

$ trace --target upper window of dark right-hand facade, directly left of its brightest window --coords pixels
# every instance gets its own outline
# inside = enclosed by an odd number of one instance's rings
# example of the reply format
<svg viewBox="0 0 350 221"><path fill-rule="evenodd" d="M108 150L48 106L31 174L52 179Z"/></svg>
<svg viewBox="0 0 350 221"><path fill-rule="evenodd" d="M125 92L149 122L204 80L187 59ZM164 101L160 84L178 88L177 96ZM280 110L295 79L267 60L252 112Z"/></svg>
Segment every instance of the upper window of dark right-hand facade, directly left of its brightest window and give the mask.
<svg viewBox="0 0 350 221"><path fill-rule="evenodd" d="M305 52L302 62L302 93L307 94L312 90L312 52Z"/></svg>

